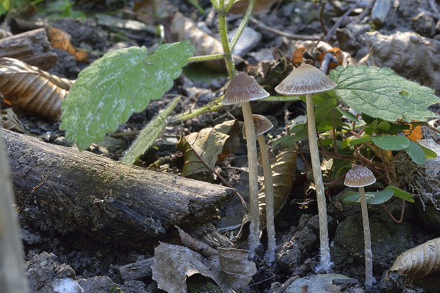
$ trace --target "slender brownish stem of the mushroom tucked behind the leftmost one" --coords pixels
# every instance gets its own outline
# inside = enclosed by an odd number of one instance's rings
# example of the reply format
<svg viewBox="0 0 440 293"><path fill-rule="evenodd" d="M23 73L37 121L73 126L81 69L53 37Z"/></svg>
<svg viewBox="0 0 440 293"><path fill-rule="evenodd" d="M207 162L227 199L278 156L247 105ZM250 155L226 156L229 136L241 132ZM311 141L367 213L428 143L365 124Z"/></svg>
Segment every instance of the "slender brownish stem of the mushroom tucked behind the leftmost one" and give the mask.
<svg viewBox="0 0 440 293"><path fill-rule="evenodd" d="M266 205L266 228L268 230L268 251L266 257L268 262L275 260L275 223L273 208L273 177L272 168L270 167L268 147L265 143L263 135L257 136L260 145L261 160L263 161L264 174L264 194Z"/></svg>

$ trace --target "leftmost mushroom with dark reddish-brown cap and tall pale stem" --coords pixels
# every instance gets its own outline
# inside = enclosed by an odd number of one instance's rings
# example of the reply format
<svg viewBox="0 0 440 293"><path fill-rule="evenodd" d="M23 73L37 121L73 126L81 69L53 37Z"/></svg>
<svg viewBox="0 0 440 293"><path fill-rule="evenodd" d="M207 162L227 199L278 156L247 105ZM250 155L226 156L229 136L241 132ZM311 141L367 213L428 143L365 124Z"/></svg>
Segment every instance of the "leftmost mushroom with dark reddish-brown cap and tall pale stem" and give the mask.
<svg viewBox="0 0 440 293"><path fill-rule="evenodd" d="M248 248L249 257L253 258L255 248L260 244L260 214L258 211L258 162L255 127L253 125L250 101L264 99L269 93L247 74L238 74L229 83L221 104L241 104L244 125L246 126L246 141L248 148L249 168L249 214L251 226L249 228Z"/></svg>

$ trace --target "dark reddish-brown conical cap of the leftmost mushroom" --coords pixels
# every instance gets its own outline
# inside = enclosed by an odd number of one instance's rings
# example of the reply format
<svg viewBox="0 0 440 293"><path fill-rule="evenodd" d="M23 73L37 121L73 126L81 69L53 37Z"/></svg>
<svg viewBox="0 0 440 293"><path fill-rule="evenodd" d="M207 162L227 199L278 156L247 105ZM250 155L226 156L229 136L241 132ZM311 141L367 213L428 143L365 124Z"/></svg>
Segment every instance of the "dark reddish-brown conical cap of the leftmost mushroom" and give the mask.
<svg viewBox="0 0 440 293"><path fill-rule="evenodd" d="M255 82L255 79L248 74L237 74L229 83L224 93L222 105L242 104L248 101L264 99L270 94L263 87Z"/></svg>

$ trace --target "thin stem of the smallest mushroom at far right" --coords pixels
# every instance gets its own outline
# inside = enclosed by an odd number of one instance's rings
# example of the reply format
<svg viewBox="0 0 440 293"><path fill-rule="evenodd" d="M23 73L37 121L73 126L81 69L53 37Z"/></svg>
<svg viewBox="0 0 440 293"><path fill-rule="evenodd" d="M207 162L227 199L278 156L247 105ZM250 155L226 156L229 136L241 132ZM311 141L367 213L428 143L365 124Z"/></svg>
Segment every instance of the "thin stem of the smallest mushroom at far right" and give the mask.
<svg viewBox="0 0 440 293"><path fill-rule="evenodd" d="M363 241L365 245L365 286L373 285L373 253L371 251L370 223L368 222L367 199L365 189L359 187L359 198L361 199Z"/></svg>

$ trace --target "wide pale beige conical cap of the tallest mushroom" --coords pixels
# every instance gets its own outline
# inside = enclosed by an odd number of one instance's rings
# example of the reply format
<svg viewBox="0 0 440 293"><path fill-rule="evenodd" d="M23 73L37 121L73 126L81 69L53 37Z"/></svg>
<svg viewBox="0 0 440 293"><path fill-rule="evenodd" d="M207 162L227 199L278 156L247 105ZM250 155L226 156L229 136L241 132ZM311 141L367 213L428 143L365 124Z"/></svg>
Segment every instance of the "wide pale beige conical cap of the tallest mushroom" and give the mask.
<svg viewBox="0 0 440 293"><path fill-rule="evenodd" d="M275 91L285 96L302 96L304 94L328 92L334 89L336 85L336 82L329 79L329 77L317 69L317 67L304 63L290 72L290 74L275 87Z"/></svg>

